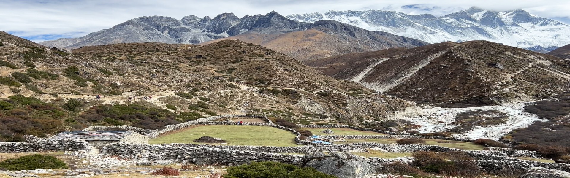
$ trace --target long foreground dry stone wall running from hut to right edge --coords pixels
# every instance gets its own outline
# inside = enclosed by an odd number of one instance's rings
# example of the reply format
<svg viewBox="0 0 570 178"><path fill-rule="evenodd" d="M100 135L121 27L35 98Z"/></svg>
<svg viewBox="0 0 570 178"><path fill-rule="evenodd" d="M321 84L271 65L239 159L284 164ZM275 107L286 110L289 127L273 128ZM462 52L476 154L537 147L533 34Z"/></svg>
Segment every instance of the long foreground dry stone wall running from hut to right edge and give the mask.
<svg viewBox="0 0 570 178"><path fill-rule="evenodd" d="M207 146L207 147L200 147ZM214 147L215 146L215 147ZM519 160L513 157L488 155L482 151L463 151L461 149L440 147L437 145L392 145L381 143L354 143L346 145L306 145L303 147L255 147L255 146L219 146L219 145L194 145L194 144L128 144L113 143L103 147L103 153L109 155L128 156L144 160L173 160L181 163L193 164L226 164L240 165L253 161L278 161L281 163L298 165L302 155L283 155L269 152L317 152L317 151L348 151L356 148L378 147L389 152L413 152L413 151L459 151L474 157L476 163L482 169L489 172L501 169L526 169L530 167L544 167L561 171L570 171L570 164L541 163L536 161ZM242 149L242 150L238 150ZM243 150L249 149L249 150ZM382 167L396 161L411 163L413 157L397 157L394 159L382 159L368 157L365 159L369 164Z"/></svg>

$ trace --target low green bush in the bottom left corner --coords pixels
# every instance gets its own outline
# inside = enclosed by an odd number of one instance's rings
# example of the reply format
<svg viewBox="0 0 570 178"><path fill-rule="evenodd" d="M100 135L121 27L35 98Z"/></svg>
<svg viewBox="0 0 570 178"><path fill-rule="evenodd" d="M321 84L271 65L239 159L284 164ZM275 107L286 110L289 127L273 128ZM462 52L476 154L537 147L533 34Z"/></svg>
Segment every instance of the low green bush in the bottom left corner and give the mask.
<svg viewBox="0 0 570 178"><path fill-rule="evenodd" d="M30 170L30 169L59 169L68 168L67 164L57 157L51 155L28 155L17 159L7 159L0 162L0 168L10 171Z"/></svg>

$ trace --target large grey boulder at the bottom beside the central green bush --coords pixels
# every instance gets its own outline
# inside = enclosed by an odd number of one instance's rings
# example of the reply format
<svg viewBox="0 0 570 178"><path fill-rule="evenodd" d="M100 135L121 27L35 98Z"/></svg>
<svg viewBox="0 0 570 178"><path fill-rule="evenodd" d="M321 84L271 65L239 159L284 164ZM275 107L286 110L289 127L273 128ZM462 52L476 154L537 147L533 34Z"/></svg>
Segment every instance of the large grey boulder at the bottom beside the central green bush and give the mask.
<svg viewBox="0 0 570 178"><path fill-rule="evenodd" d="M307 153L303 156L301 165L340 178L361 178L375 173L374 167L363 157L336 151Z"/></svg>

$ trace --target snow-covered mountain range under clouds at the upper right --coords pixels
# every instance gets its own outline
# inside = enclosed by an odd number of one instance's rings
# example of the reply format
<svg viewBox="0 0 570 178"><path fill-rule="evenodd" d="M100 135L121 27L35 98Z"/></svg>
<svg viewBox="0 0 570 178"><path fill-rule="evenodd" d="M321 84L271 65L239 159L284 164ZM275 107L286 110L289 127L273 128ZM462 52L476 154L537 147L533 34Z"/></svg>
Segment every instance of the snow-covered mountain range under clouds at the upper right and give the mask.
<svg viewBox="0 0 570 178"><path fill-rule="evenodd" d="M291 14L299 22L333 20L429 43L484 40L546 52L570 43L570 26L524 10L490 11L472 7L435 17L396 11L327 11Z"/></svg>

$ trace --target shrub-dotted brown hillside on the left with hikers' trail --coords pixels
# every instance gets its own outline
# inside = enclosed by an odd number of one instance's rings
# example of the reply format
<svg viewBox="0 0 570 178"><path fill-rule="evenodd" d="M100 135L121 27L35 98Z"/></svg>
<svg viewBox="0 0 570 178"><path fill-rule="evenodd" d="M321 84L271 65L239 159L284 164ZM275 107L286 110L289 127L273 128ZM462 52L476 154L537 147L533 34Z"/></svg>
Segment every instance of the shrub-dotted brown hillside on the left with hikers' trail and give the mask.
<svg viewBox="0 0 570 178"><path fill-rule="evenodd" d="M359 124L388 118L411 106L237 40L205 46L120 43L72 53L4 32L0 41L3 115L46 116L54 122L50 131L13 131L17 133L39 135L116 124L161 127L222 114L267 114L307 124ZM102 95L100 100L95 99L97 94ZM144 96L152 98L144 100ZM30 106L34 103L37 106ZM10 123L6 118L4 122Z"/></svg>

